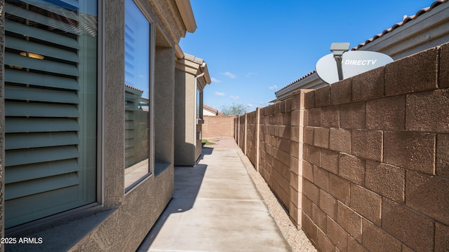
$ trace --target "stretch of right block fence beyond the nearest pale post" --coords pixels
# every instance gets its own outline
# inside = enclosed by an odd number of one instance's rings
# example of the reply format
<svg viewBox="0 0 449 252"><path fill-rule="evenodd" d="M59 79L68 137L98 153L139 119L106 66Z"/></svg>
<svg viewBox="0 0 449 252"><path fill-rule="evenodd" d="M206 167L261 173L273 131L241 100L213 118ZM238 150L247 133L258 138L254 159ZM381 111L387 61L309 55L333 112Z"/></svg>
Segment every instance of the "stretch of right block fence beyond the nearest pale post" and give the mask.
<svg viewBox="0 0 449 252"><path fill-rule="evenodd" d="M290 207L291 108L289 99L236 119L237 144L286 208Z"/></svg>

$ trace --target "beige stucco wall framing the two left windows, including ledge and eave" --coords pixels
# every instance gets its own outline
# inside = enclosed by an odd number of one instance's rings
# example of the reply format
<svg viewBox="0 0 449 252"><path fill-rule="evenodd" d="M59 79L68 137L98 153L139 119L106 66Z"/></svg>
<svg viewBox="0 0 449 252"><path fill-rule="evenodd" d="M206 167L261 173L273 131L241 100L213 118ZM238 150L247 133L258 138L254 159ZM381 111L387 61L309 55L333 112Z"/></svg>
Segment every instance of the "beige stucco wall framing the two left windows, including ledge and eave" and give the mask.
<svg viewBox="0 0 449 252"><path fill-rule="evenodd" d="M102 38L104 71L102 90L103 129L102 155L99 176L102 195L96 207L79 209L49 223L41 223L15 233L15 237L42 237L43 244L6 246L6 251L135 251L173 195L173 156L175 124L175 44L184 36L183 26L175 1L138 0L151 17L156 28L156 69L154 73L154 158L163 163L128 193L124 191L124 3L104 0L104 29ZM0 8L4 10L4 2ZM1 18L4 18L2 13ZM3 20L0 21L3 34ZM4 46L4 36L0 36ZM0 50L0 62L3 62ZM3 64L2 64L3 66ZM3 80L2 69L0 79ZM2 81L3 83L3 81ZM0 90L0 167L4 167L4 98ZM100 136L99 136L100 137ZM157 165L161 167L161 165ZM0 168L0 197L4 195L4 176ZM1 200L0 225L4 237L4 202ZM8 231L8 230L6 230ZM8 234L8 232L6 232ZM39 246L39 247L38 247ZM3 251L0 247L0 251Z"/></svg>

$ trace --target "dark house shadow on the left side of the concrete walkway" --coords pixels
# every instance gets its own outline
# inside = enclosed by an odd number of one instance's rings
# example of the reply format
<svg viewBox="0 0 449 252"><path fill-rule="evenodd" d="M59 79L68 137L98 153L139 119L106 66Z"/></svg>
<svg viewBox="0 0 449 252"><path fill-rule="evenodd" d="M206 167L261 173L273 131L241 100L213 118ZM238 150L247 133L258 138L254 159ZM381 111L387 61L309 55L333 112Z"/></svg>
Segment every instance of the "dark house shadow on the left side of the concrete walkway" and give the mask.
<svg viewBox="0 0 449 252"><path fill-rule="evenodd" d="M203 147L199 160L203 159L203 155L211 155L212 152L213 148ZM138 251L147 251L149 249L170 215L192 209L201 183L203 183L206 169L207 165L198 163L194 167L175 166L175 190L173 197L168 202L167 207L163 210L156 223L154 223L147 237L140 244Z"/></svg>

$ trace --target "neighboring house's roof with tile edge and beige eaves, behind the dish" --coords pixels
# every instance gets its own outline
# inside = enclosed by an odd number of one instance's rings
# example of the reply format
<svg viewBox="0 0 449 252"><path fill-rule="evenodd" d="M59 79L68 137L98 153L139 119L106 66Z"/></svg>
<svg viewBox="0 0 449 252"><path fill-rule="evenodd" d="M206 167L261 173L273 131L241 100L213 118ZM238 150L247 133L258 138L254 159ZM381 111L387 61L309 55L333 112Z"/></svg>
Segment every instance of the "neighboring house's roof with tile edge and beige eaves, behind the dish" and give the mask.
<svg viewBox="0 0 449 252"><path fill-rule="evenodd" d="M384 29L382 33L368 38L351 50L382 52L396 60L449 41L448 1L434 1L431 6L418 10L415 15L404 16L402 22ZM327 83L314 70L274 92L276 99L272 102L290 97L295 90L316 89L324 85Z"/></svg>

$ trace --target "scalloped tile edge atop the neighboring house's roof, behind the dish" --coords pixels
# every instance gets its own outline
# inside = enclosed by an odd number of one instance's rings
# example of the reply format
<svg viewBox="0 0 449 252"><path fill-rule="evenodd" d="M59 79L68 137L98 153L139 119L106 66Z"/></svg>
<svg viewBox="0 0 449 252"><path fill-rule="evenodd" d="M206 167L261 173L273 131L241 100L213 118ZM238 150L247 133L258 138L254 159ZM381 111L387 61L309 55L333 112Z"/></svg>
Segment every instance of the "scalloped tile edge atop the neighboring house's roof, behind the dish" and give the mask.
<svg viewBox="0 0 449 252"><path fill-rule="evenodd" d="M441 3L445 3L447 1L449 1L449 0L437 0L437 1L434 1L433 3L431 3L431 5L429 7L422 8L422 9L418 10L415 15L412 15L410 17L404 15L403 19L402 19L402 22L398 22L398 23L394 24L392 27L390 27L388 29L384 29L384 31L382 31L382 33L373 36L373 38L368 38L365 42L358 44L356 47L352 48L351 50L358 50L358 49L360 49L364 45L367 45L368 43L371 43L371 42L375 41L377 38L380 38L380 37L384 36L385 34L393 31L394 29L405 25L407 22L415 20L420 15L422 15L424 13L427 13L429 10L431 10L431 9L435 8L436 6L439 6ZM311 76L315 72L316 72L316 70L311 71L310 73L307 73L305 76L302 76L301 78L293 81L293 83L290 83L290 84L286 85L285 87L282 87L280 90L277 90L275 93L280 92L281 90L285 90L287 87L290 87L291 85L297 83L298 81L300 81L300 80L302 80L304 78L307 78L308 76Z"/></svg>

